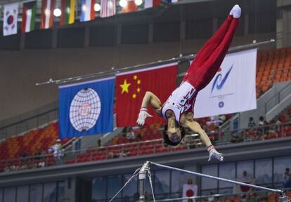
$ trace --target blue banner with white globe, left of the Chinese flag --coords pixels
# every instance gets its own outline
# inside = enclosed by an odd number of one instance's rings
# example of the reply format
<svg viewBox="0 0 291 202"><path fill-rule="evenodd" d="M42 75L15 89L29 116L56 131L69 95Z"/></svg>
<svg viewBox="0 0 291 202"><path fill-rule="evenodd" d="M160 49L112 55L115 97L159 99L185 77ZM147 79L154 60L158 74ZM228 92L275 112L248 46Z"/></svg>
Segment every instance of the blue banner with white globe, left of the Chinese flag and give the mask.
<svg viewBox="0 0 291 202"><path fill-rule="evenodd" d="M114 77L60 86L60 138L111 132L114 87Z"/></svg>

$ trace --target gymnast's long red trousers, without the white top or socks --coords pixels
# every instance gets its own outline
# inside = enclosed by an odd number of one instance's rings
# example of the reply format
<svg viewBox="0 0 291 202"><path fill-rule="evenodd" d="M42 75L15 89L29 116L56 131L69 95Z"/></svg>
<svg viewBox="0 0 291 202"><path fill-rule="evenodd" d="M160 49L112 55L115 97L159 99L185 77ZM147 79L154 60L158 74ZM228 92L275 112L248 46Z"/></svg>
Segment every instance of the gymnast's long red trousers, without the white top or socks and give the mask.
<svg viewBox="0 0 291 202"><path fill-rule="evenodd" d="M238 22L239 18L228 15L216 33L199 50L183 81L187 81L198 91L207 86L231 46Z"/></svg>

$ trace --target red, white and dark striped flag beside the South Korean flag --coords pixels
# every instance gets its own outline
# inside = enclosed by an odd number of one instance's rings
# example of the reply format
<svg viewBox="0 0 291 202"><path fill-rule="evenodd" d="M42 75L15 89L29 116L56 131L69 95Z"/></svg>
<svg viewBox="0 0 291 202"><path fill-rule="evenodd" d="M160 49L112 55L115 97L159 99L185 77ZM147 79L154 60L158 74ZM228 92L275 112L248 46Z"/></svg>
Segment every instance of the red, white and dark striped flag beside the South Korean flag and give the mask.
<svg viewBox="0 0 291 202"><path fill-rule="evenodd" d="M37 11L37 1L23 3L21 32L31 32L34 30L35 13Z"/></svg>

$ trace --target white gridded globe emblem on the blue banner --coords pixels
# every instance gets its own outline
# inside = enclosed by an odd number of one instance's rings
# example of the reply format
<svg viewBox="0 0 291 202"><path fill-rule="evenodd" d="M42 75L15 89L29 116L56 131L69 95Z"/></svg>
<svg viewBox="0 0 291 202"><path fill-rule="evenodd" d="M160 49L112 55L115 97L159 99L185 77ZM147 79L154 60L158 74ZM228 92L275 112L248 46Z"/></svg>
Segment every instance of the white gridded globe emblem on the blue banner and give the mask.
<svg viewBox="0 0 291 202"><path fill-rule="evenodd" d="M101 112L101 100L91 88L84 88L73 98L70 105L70 123L79 132L95 126Z"/></svg>

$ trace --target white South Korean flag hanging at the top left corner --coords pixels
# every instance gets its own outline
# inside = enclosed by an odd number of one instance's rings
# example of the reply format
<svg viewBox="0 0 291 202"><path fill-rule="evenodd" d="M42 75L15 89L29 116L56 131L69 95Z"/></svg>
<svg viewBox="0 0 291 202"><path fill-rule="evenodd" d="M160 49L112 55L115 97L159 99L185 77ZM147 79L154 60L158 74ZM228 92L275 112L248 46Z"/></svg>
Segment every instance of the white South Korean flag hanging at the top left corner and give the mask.
<svg viewBox="0 0 291 202"><path fill-rule="evenodd" d="M3 35L17 34L18 3L4 5Z"/></svg>

